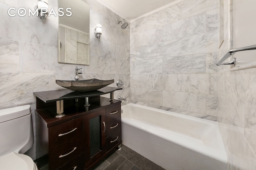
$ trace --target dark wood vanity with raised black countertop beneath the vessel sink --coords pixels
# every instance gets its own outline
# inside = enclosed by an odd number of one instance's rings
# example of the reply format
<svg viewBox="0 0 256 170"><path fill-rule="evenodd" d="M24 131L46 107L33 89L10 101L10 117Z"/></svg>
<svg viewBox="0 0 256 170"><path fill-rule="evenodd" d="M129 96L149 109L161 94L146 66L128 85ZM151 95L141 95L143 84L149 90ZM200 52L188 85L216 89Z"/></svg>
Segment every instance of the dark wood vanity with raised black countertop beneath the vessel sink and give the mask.
<svg viewBox="0 0 256 170"><path fill-rule="evenodd" d="M34 93L36 156L38 162L46 163L45 169L89 170L122 143L121 101L110 102L110 98L100 96L121 88L102 89ZM84 106L85 97L89 97L90 106ZM64 102L65 116L56 118L59 100Z"/></svg>

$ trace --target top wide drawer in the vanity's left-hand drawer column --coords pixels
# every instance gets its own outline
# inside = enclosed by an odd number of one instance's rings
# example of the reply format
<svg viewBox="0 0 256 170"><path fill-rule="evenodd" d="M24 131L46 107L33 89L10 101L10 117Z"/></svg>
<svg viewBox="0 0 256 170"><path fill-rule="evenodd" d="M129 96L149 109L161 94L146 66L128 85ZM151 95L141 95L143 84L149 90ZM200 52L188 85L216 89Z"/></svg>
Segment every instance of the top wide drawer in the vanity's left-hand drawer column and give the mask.
<svg viewBox="0 0 256 170"><path fill-rule="evenodd" d="M54 149L62 145L82 142L83 118L79 117L53 127L49 127L49 149Z"/></svg>

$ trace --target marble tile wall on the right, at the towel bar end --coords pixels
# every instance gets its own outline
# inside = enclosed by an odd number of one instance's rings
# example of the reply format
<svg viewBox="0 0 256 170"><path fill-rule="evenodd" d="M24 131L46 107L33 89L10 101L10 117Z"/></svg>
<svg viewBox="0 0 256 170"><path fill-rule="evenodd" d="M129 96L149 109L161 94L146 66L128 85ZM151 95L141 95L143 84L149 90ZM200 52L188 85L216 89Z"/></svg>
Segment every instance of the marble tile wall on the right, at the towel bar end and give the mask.
<svg viewBox="0 0 256 170"><path fill-rule="evenodd" d="M224 43L218 59L231 48L232 4L224 2ZM234 11L235 12L235 11ZM231 21L230 21L231 18ZM255 24L250 22L250 24ZM256 68L230 71L219 66L217 73L218 124L228 156L229 170L256 169Z"/></svg>

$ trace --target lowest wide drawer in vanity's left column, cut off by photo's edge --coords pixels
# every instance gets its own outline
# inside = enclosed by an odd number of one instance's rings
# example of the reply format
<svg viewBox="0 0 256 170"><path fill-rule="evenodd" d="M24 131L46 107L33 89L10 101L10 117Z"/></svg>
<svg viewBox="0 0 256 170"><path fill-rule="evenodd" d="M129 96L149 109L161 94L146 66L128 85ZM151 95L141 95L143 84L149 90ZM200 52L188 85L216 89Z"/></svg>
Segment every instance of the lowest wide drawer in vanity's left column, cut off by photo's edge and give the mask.
<svg viewBox="0 0 256 170"><path fill-rule="evenodd" d="M57 170L84 170L82 156L78 156Z"/></svg>

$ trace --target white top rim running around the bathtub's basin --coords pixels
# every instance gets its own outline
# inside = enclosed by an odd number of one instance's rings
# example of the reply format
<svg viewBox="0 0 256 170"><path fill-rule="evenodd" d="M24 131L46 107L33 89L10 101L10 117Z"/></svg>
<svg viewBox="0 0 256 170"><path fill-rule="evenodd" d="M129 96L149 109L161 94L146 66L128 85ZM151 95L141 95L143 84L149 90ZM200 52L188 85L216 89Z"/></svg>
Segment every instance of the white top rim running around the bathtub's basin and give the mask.
<svg viewBox="0 0 256 170"><path fill-rule="evenodd" d="M210 125L215 126L217 128L216 130L218 131L218 134L217 134L218 135L218 140L220 140L220 142L221 142L220 146L219 146L220 147L219 149L208 147L207 145L204 145L202 143L201 143L202 145L197 145L198 143L196 143L194 141L192 141L192 142L190 141L190 143L188 143L186 139L190 140L191 137L188 137L188 136L185 137L185 135L177 135L176 132L172 132L172 131L169 132L165 129L161 129L161 128L158 128L158 127L152 127L152 126L150 126L150 123L148 123L148 122L143 122L143 121L139 121L139 120L136 120L136 119L131 119L131 118L122 116L122 123L126 123L128 125L136 127L138 129L141 129L141 130L146 131L148 133L152 133L153 135L156 135L160 138L166 139L167 141L171 141L173 143L176 143L177 145L181 145L182 147L186 147L188 149L194 150L195 152L199 152L199 153L204 154L208 157L214 158L215 160L218 160L220 162L223 162L223 163L228 162L228 158L227 158L227 155L226 155L226 150L224 148L224 143L223 143L222 137L220 135L220 130L219 130L217 122L206 120L206 119L201 119L201 118L198 118L198 117L182 115L180 113L174 113L174 112L171 112L171 111L156 109L156 108L153 108L153 107L133 104L133 103L126 104L126 105L122 106L122 108L129 107L129 106L140 107L140 108L144 108L144 109L150 109L150 110L171 114L171 115L186 118L186 119L189 118L191 120L203 121L203 122L209 123Z"/></svg>

